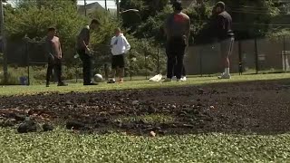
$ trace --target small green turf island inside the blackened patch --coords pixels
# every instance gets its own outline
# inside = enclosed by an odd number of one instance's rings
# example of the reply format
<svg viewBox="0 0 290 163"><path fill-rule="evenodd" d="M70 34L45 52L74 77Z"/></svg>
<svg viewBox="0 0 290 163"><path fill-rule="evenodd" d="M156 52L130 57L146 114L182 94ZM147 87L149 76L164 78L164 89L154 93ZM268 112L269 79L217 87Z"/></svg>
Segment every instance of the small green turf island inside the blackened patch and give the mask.
<svg viewBox="0 0 290 163"><path fill-rule="evenodd" d="M175 118L170 115L164 114L150 114L141 116L131 116L131 117L118 117L116 120L121 120L122 122L133 122L142 120L146 123L173 123Z"/></svg>

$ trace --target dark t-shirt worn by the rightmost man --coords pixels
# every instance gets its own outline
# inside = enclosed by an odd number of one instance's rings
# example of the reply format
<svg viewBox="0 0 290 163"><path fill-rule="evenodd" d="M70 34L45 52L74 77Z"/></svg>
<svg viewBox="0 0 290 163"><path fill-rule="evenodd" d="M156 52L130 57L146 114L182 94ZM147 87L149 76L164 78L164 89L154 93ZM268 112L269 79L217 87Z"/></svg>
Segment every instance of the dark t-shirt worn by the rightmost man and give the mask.
<svg viewBox="0 0 290 163"><path fill-rule="evenodd" d="M219 40L225 40L229 37L233 37L232 30L232 17L226 11L218 14L217 16L217 37Z"/></svg>

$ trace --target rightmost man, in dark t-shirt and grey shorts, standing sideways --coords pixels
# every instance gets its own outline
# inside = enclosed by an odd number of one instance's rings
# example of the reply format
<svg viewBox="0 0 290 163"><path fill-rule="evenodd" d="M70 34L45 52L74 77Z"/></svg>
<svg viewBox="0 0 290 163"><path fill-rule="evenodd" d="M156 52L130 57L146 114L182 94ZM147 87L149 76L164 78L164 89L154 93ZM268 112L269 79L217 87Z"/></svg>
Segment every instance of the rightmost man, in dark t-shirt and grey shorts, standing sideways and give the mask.
<svg viewBox="0 0 290 163"><path fill-rule="evenodd" d="M217 17L216 17L216 35L218 42L220 43L220 53L222 57L222 63L225 68L219 79L230 79L229 73L229 56L233 52L235 35L232 30L232 17L227 13L226 5L223 2L218 2L215 6Z"/></svg>

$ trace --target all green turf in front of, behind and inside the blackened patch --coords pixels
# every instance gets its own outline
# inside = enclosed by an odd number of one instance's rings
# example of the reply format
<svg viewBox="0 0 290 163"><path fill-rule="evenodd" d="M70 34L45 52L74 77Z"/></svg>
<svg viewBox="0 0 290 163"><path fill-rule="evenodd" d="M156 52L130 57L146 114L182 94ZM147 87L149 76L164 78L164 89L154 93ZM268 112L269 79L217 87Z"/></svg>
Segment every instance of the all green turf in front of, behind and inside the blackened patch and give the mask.
<svg viewBox="0 0 290 163"><path fill-rule="evenodd" d="M155 83L125 82L84 87L45 88L5 86L1 95L31 94L46 91L103 91L123 89L165 88L216 82L247 82L289 79L289 73L234 76L219 81L216 77L192 78L189 82ZM120 120L170 122L164 115L120 117ZM80 134L59 127L51 132L17 134L15 129L0 128L0 162L290 162L290 133L277 135L208 133L170 135L164 137Z"/></svg>

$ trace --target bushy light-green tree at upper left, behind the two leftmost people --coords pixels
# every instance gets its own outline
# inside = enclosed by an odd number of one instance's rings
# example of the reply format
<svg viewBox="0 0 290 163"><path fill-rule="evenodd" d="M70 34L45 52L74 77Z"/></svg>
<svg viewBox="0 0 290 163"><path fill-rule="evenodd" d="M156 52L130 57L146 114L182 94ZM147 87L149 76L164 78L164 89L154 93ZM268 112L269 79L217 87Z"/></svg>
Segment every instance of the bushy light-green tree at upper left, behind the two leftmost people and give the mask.
<svg viewBox="0 0 290 163"><path fill-rule="evenodd" d="M76 35L85 24L86 19L77 13L73 2L49 0L50 3L47 2L41 7L36 6L34 4L36 2L24 0L14 10L5 10L5 30L8 43L22 40L24 37L43 40L47 28L53 26L57 29L63 43L64 57L73 58Z"/></svg>

